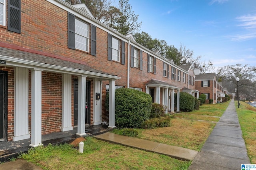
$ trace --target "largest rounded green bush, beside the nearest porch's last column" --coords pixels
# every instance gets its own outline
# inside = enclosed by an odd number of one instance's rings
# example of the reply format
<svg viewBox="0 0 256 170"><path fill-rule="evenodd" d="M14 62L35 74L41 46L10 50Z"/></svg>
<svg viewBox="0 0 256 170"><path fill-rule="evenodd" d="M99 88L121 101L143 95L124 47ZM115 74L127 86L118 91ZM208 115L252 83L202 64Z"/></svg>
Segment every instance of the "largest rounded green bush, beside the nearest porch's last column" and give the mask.
<svg viewBox="0 0 256 170"><path fill-rule="evenodd" d="M109 98L106 98L108 100ZM108 103L108 102L106 102ZM130 88L115 90L116 127L140 128L150 116L152 97Z"/></svg>

